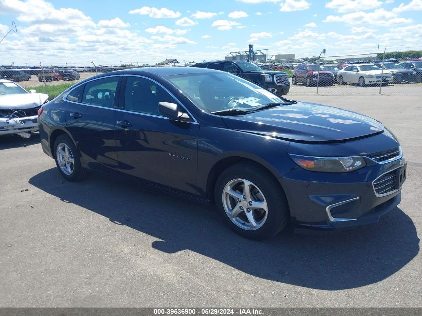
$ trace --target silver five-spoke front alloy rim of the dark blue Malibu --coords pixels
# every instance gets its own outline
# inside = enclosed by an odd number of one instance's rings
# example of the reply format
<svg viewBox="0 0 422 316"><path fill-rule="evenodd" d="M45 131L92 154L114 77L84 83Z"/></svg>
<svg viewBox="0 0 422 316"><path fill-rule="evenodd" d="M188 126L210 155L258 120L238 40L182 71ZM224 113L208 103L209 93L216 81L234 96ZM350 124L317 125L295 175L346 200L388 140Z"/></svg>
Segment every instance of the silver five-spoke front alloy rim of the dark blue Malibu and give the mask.
<svg viewBox="0 0 422 316"><path fill-rule="evenodd" d="M267 201L262 191L251 181L229 181L224 187L222 199L229 219L244 230L259 229L267 220Z"/></svg>

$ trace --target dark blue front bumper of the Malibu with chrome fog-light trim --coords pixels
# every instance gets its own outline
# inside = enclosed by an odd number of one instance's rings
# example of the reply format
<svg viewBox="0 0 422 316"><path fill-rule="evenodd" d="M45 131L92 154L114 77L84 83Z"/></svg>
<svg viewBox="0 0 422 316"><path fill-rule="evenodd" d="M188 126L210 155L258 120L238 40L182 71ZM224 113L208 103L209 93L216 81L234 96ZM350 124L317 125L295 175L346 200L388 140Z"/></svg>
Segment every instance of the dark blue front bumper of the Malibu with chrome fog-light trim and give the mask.
<svg viewBox="0 0 422 316"><path fill-rule="evenodd" d="M296 168L280 178L297 227L335 229L376 223L401 199L401 185L387 195L377 195L373 182L393 170L404 170L403 158L372 164L355 172L327 174Z"/></svg>

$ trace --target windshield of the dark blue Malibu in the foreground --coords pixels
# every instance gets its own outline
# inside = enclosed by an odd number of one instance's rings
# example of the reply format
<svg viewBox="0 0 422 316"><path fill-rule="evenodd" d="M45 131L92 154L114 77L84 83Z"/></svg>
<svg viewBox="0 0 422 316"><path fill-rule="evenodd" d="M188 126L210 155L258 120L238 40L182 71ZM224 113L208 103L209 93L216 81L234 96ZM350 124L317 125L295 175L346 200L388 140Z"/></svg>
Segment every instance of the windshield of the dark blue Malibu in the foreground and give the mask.
<svg viewBox="0 0 422 316"><path fill-rule="evenodd" d="M223 110L254 110L284 100L270 91L229 73L184 74L168 80L198 108L208 113Z"/></svg>

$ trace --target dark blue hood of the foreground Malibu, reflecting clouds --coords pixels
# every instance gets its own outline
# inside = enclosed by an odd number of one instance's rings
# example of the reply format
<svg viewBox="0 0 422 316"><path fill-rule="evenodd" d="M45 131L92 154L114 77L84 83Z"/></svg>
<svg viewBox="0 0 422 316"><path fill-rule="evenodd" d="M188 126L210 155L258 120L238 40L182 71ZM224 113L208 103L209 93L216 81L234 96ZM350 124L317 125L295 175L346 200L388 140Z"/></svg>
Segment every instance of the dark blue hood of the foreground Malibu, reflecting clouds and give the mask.
<svg viewBox="0 0 422 316"><path fill-rule="evenodd" d="M295 142L341 142L384 131L368 116L305 102L222 119L230 129Z"/></svg>

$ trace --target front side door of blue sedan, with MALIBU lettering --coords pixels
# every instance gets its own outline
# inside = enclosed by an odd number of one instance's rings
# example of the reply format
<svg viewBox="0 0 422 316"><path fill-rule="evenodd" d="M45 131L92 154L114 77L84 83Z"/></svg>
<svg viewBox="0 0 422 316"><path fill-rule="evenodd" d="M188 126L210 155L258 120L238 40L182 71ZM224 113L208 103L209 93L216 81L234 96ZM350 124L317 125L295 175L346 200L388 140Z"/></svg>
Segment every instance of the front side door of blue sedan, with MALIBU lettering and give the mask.
<svg viewBox="0 0 422 316"><path fill-rule="evenodd" d="M116 116L119 170L129 176L197 194L199 124L171 121L158 112L158 102L177 103L160 84L127 76Z"/></svg>

